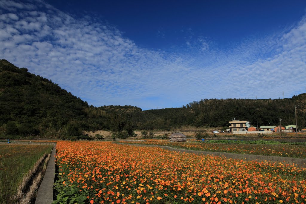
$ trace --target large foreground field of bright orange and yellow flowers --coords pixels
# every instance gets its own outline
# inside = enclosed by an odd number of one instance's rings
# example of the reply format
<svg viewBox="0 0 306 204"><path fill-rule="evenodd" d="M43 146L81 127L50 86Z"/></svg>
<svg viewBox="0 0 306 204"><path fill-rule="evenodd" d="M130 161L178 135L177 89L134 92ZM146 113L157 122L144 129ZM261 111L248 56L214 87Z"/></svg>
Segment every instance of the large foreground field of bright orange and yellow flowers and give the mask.
<svg viewBox="0 0 306 204"><path fill-rule="evenodd" d="M111 142L58 142L54 203L306 203L306 169Z"/></svg>

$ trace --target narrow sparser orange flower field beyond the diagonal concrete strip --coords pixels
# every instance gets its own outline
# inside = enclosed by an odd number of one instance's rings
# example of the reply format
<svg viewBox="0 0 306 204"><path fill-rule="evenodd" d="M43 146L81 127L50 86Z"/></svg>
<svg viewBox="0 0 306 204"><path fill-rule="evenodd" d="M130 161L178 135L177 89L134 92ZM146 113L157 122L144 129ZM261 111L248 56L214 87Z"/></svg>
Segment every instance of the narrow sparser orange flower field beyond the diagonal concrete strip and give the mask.
<svg viewBox="0 0 306 204"><path fill-rule="evenodd" d="M200 150L209 152L228 152L237 154L269 155L278 157L292 157L306 159L306 146L304 145L267 145L267 144L222 144L222 143L171 143L166 141L120 141L120 143L161 145L187 150Z"/></svg>

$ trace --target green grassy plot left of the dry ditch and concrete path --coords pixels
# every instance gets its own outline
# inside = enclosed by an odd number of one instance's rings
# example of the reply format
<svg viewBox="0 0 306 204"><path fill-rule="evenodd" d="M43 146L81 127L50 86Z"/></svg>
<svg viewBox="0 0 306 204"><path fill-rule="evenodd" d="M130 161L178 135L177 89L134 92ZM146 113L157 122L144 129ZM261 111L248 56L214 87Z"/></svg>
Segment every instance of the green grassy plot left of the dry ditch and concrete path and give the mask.
<svg viewBox="0 0 306 204"><path fill-rule="evenodd" d="M52 150L52 145L17 145L0 146L0 203L15 203L13 195L23 177L45 153Z"/></svg>

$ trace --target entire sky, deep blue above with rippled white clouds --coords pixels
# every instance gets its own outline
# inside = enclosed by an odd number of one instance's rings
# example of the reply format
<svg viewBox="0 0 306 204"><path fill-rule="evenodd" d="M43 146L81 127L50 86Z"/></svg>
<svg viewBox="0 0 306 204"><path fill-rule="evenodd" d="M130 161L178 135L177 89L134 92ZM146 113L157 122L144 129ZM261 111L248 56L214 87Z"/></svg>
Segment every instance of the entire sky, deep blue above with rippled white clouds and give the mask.
<svg viewBox="0 0 306 204"><path fill-rule="evenodd" d="M306 92L305 9L305 1L1 0L0 58L94 106L291 98Z"/></svg>

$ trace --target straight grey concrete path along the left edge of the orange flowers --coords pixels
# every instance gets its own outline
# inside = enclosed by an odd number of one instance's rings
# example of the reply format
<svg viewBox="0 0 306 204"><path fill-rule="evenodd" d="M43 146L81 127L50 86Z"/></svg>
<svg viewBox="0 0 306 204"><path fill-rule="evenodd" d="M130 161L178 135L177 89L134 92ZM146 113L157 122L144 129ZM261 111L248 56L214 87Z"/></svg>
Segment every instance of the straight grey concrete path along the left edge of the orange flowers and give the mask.
<svg viewBox="0 0 306 204"><path fill-rule="evenodd" d="M53 201L56 143L53 147L43 182L39 186L35 204L50 204Z"/></svg>

